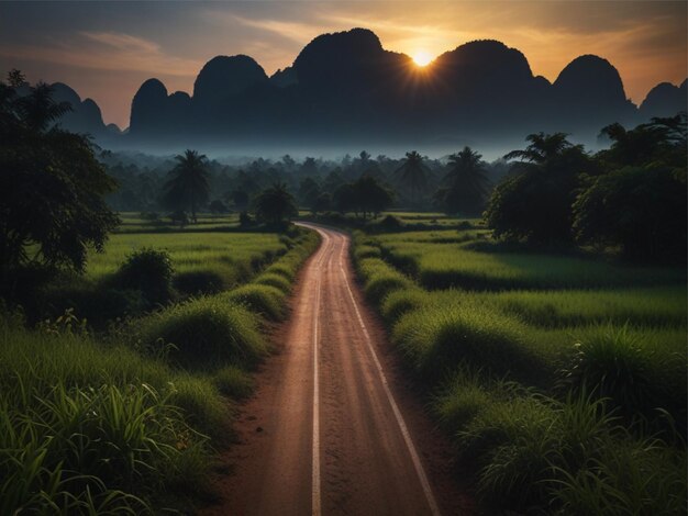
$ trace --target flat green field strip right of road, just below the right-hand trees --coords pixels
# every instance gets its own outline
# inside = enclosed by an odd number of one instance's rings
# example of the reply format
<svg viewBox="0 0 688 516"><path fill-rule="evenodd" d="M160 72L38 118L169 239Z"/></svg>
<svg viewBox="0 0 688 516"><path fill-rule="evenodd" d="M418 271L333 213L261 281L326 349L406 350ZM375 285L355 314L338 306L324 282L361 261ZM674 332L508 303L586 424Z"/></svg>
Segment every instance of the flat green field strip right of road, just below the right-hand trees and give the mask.
<svg viewBox="0 0 688 516"><path fill-rule="evenodd" d="M685 283L681 268L635 267L599 258L555 254L495 251L476 246L485 232L418 232L381 235L377 243L390 262L412 262L426 289L471 290L597 289ZM482 238L485 239L485 238Z"/></svg>

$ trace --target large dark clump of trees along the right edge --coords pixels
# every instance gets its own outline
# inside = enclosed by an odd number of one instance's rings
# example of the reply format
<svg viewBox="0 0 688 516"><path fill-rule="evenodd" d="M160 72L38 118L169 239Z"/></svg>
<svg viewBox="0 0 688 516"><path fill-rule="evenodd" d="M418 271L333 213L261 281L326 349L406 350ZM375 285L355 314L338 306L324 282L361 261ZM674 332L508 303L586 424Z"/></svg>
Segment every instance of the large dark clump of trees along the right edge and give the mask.
<svg viewBox="0 0 688 516"><path fill-rule="evenodd" d="M686 113L632 130L604 127L609 149L588 154L565 134L532 134L509 153L488 225L533 245L618 248L641 261L686 259Z"/></svg>

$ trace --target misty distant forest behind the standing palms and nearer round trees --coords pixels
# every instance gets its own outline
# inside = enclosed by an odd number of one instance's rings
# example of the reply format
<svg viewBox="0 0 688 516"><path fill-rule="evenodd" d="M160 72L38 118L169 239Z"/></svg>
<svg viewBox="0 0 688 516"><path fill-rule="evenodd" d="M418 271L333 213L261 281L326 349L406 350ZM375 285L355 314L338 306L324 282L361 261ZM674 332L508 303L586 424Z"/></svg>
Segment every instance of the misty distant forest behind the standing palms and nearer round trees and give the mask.
<svg viewBox="0 0 688 516"><path fill-rule="evenodd" d="M411 154L411 153L409 153ZM242 164L221 158L206 164L209 201L203 211L242 212L251 210L256 195L276 182L286 183L299 207L317 212L348 211L337 206L335 192L340 187L353 183L362 177L371 177L391 193L388 207L426 211L446 211L437 192L450 184L451 156L431 159L418 155L422 179L409 178L404 166L409 157L373 157L365 150L343 158L323 159L307 157L293 159L252 159ZM478 156L479 158L479 156ZM102 150L99 159L106 165L119 188L108 197L110 205L118 211L157 212L167 214L164 202L169 172L177 161L174 156ZM480 160L486 184L496 184L510 168L504 159L492 162ZM404 173L406 172L406 173Z"/></svg>

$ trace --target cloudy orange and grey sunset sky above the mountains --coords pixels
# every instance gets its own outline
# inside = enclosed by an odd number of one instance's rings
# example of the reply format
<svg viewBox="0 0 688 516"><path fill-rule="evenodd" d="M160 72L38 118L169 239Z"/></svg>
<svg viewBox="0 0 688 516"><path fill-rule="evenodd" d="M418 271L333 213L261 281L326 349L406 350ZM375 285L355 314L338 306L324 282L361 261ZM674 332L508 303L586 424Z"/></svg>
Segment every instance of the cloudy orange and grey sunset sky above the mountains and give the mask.
<svg viewBox="0 0 688 516"><path fill-rule="evenodd" d="M87 1L0 0L0 72L65 82L92 98L106 123L129 125L141 83L191 92L203 64L246 54L268 75L319 34L363 26L382 46L434 57L474 40L520 49L554 81L574 58L614 65L642 102L658 82L688 75L686 1Z"/></svg>

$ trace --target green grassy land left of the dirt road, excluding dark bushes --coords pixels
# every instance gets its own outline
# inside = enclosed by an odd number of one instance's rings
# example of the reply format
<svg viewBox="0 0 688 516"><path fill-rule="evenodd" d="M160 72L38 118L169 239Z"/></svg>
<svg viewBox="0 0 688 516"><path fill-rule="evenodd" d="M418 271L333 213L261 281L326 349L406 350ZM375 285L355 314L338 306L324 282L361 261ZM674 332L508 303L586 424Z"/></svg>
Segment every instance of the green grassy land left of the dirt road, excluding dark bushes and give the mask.
<svg viewBox="0 0 688 516"><path fill-rule="evenodd" d="M0 317L0 514L197 504L214 450L228 444L231 402L251 392L269 323L287 315L292 281L318 245L302 229L130 238L115 235L90 261L95 292L138 246L168 248L175 280L213 271L230 290L189 298L169 285L165 304L98 334L70 314L33 329Z"/></svg>

